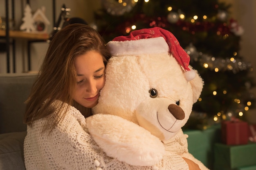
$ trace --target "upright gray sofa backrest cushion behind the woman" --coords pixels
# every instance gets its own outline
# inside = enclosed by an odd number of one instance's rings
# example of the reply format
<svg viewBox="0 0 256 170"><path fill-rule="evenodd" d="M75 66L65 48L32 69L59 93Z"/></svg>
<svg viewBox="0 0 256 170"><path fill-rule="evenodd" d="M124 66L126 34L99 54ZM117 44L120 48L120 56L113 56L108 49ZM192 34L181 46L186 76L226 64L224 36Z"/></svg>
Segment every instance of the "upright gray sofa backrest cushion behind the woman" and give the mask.
<svg viewBox="0 0 256 170"><path fill-rule="evenodd" d="M26 131L23 124L25 100L36 74L0 74L0 134Z"/></svg>

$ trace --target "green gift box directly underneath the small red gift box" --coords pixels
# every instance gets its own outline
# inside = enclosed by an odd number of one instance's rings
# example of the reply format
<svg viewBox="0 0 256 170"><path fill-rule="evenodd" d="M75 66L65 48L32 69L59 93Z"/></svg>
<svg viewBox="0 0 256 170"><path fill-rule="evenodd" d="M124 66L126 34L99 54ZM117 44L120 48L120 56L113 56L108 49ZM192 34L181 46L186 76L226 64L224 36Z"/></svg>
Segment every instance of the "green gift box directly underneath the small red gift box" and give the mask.
<svg viewBox="0 0 256 170"><path fill-rule="evenodd" d="M256 166L256 143L214 145L214 170L237 170L246 166Z"/></svg>

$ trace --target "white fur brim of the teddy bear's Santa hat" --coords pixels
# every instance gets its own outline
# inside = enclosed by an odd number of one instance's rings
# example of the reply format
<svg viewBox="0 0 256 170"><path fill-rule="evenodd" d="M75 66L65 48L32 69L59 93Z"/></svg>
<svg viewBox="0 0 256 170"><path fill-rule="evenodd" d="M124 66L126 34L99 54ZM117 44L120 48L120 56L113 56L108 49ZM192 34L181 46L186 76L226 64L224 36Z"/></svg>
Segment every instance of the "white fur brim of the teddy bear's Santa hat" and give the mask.
<svg viewBox="0 0 256 170"><path fill-rule="evenodd" d="M112 56L141 55L169 52L169 47L163 37L110 41L107 48Z"/></svg>

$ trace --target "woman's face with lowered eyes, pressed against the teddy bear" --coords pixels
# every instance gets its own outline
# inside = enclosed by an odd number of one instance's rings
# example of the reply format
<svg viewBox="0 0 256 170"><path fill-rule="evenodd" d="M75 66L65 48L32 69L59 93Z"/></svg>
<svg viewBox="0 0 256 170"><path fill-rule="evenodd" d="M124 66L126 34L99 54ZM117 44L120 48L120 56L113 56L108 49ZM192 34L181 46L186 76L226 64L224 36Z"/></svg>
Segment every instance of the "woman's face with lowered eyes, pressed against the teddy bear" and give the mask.
<svg viewBox="0 0 256 170"><path fill-rule="evenodd" d="M105 84L105 65L102 55L88 51L74 59L76 68L76 88L74 100L86 108L96 106L99 91Z"/></svg>

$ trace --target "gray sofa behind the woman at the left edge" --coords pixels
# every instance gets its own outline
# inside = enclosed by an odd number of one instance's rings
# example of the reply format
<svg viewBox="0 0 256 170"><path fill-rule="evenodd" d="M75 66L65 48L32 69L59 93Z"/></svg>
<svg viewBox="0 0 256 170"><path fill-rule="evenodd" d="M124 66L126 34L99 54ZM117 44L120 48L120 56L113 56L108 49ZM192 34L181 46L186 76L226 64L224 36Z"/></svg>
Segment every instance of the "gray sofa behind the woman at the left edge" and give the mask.
<svg viewBox="0 0 256 170"><path fill-rule="evenodd" d="M25 170L25 100L36 73L0 74L0 170Z"/></svg>

